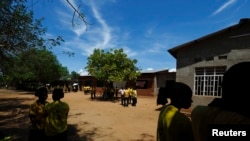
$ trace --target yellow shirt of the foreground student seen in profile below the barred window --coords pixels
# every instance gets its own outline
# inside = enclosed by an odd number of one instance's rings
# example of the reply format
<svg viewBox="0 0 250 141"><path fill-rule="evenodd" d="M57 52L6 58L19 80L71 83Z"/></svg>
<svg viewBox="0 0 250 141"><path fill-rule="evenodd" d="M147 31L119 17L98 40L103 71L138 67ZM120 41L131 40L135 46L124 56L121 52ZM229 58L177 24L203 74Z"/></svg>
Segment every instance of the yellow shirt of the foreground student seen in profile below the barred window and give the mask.
<svg viewBox="0 0 250 141"><path fill-rule="evenodd" d="M173 105L162 108L157 125L157 141L193 141L190 119Z"/></svg>

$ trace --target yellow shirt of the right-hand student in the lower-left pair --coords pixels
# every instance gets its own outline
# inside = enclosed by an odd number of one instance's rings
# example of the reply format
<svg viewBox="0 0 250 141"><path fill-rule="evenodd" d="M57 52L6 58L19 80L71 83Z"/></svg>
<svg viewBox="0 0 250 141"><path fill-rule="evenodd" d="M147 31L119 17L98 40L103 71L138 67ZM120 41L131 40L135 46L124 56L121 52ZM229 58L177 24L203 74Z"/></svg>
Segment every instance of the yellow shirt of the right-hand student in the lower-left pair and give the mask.
<svg viewBox="0 0 250 141"><path fill-rule="evenodd" d="M54 101L46 104L45 111L47 136L54 136L67 130L67 118L69 113L69 105L62 101Z"/></svg>

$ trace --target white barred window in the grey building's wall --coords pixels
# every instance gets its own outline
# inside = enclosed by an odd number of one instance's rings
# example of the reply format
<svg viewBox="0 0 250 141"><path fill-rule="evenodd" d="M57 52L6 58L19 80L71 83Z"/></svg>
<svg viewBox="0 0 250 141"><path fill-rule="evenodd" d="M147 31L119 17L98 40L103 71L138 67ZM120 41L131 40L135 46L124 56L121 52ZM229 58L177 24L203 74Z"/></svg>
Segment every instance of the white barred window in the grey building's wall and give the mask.
<svg viewBox="0 0 250 141"><path fill-rule="evenodd" d="M194 94L220 97L222 94L221 82L225 71L225 66L195 68Z"/></svg>

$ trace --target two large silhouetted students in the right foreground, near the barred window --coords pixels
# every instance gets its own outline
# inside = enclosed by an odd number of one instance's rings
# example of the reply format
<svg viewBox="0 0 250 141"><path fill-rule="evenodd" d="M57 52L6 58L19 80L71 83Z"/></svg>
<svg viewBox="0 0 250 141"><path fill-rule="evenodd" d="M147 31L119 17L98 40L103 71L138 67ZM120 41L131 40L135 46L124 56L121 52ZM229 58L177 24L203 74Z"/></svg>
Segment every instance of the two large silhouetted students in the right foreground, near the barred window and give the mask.
<svg viewBox="0 0 250 141"><path fill-rule="evenodd" d="M157 141L211 141L218 136L222 140L227 139L223 136L250 140L250 133L246 133L247 130L250 132L249 80L250 62L233 65L224 73L222 97L215 98L207 106L196 106L191 117L180 110L191 106L192 90L186 84L176 82L166 97L170 104L164 105L159 113ZM237 134L239 132L244 134Z"/></svg>

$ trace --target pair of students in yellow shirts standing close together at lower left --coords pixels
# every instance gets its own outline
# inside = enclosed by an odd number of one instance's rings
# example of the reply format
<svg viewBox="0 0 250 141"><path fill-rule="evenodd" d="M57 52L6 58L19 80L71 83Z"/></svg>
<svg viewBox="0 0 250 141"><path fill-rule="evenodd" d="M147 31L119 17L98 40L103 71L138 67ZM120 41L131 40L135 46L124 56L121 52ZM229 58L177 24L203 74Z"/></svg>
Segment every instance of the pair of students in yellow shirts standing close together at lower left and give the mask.
<svg viewBox="0 0 250 141"><path fill-rule="evenodd" d="M48 90L40 87L36 90L38 99L30 105L29 117L31 129L29 141L67 141L67 118L69 105L61 101L62 88L52 92L53 102L48 102Z"/></svg>

